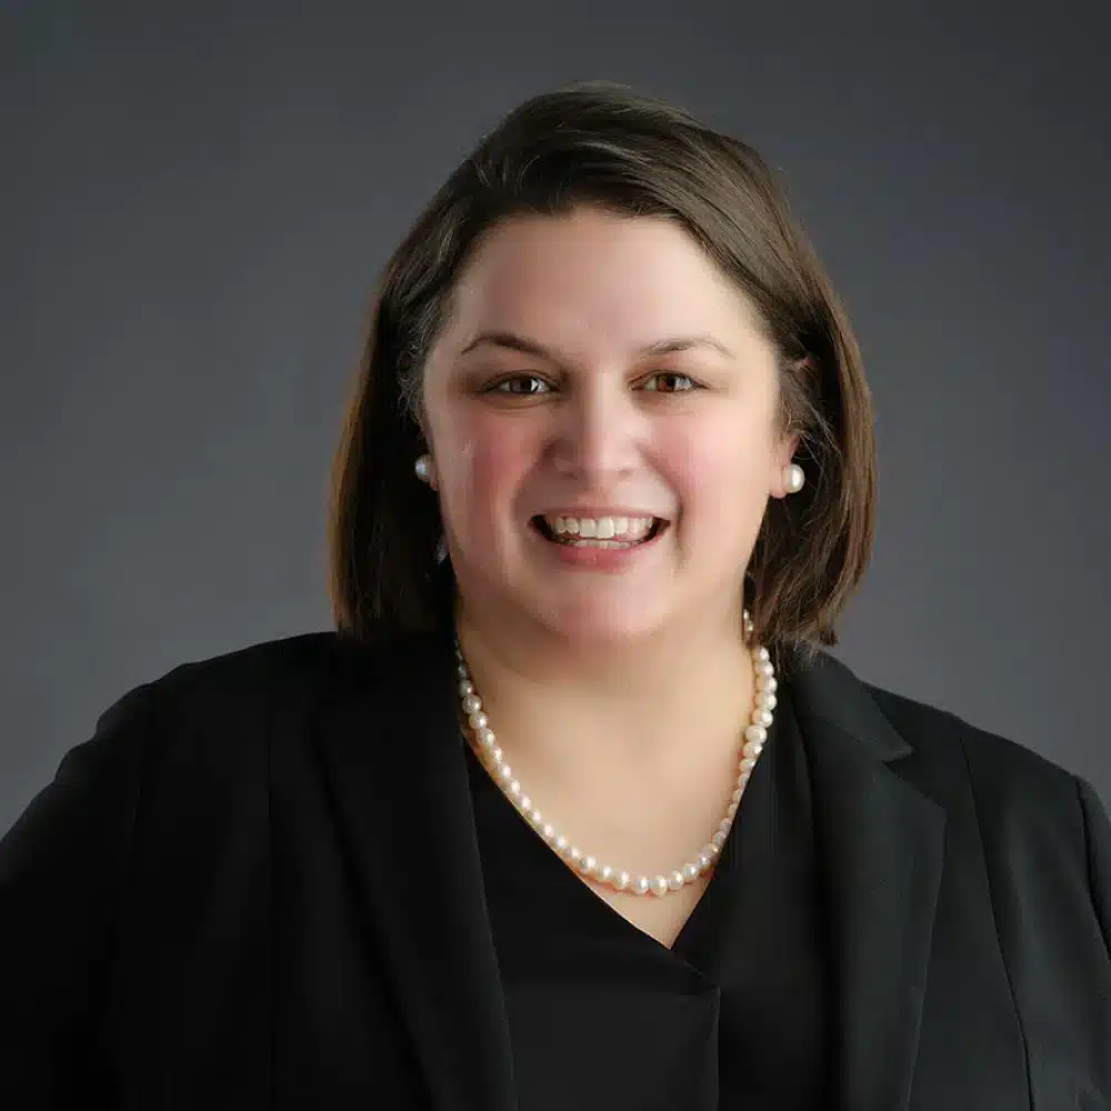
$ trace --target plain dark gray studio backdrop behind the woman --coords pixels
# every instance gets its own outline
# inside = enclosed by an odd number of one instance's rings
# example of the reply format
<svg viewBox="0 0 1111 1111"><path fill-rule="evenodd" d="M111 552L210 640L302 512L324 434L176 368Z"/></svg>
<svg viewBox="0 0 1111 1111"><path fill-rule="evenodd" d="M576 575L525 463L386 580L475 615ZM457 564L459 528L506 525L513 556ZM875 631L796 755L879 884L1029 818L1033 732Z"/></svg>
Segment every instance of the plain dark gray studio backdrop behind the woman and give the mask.
<svg viewBox="0 0 1111 1111"><path fill-rule="evenodd" d="M124 690L330 627L378 268L581 78L758 146L848 302L880 522L839 654L1111 801L1107 6L770 7L8 6L0 831Z"/></svg>

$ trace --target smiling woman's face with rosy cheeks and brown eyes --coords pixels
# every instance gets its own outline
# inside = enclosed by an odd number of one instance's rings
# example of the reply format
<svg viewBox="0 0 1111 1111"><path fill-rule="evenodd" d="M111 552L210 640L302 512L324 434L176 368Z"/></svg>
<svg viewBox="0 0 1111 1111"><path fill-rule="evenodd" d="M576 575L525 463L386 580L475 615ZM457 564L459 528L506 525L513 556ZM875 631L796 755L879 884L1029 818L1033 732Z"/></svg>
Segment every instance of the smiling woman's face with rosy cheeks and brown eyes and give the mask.
<svg viewBox="0 0 1111 1111"><path fill-rule="evenodd" d="M797 438L754 310L680 227L593 209L496 227L424 404L464 608L614 645L739 630Z"/></svg>

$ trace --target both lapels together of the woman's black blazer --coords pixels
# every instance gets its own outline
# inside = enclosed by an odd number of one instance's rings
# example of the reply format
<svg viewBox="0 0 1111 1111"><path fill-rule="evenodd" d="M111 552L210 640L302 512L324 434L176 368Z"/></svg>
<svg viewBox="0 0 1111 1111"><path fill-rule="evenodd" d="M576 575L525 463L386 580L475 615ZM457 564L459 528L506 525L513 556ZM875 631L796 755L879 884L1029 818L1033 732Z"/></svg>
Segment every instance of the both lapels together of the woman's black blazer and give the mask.
<svg viewBox="0 0 1111 1111"><path fill-rule="evenodd" d="M341 642L316 738L437 1111L513 1111L512 1052L486 901L447 631ZM811 772L843 1111L910 1097L942 869L944 812L890 764L912 752L844 664L784 680Z"/></svg>

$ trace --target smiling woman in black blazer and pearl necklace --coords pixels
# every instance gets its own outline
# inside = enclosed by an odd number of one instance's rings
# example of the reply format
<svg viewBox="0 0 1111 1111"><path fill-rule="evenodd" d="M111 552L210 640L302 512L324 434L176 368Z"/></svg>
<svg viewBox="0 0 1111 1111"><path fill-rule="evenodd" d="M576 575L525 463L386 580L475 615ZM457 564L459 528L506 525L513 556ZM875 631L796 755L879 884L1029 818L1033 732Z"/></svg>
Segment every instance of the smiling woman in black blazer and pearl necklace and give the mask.
<svg viewBox="0 0 1111 1111"><path fill-rule="evenodd" d="M4 1105L1111 1107L1107 812L823 650L872 513L759 156L520 107L386 269L336 632L129 692L2 842Z"/></svg>

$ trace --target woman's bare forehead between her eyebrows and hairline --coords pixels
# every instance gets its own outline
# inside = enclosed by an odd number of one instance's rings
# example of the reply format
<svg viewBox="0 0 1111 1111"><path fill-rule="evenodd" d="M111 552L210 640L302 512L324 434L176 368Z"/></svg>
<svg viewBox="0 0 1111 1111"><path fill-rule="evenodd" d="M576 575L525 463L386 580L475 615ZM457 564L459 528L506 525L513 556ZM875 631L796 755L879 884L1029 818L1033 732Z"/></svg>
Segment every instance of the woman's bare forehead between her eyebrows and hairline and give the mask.
<svg viewBox="0 0 1111 1111"><path fill-rule="evenodd" d="M510 326L569 347L685 332L729 346L760 331L748 299L679 224L595 209L513 218L482 239L457 284L449 332L466 343Z"/></svg>

